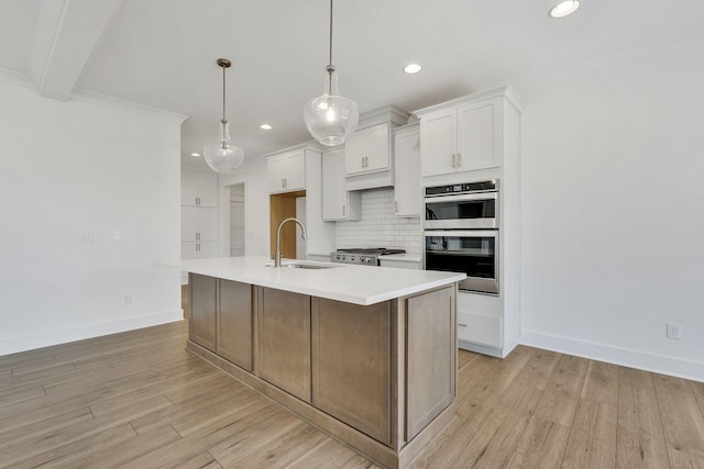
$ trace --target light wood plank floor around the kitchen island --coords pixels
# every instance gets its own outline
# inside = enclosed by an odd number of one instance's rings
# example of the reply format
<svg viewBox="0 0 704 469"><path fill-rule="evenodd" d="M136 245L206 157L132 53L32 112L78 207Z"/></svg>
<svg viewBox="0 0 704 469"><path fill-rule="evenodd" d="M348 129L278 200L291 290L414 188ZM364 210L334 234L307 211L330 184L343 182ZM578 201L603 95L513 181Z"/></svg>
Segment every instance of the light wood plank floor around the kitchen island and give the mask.
<svg viewBox="0 0 704 469"><path fill-rule="evenodd" d="M0 357L0 467L374 467L188 354L186 323ZM528 347L459 354L418 468L704 468L704 383Z"/></svg>

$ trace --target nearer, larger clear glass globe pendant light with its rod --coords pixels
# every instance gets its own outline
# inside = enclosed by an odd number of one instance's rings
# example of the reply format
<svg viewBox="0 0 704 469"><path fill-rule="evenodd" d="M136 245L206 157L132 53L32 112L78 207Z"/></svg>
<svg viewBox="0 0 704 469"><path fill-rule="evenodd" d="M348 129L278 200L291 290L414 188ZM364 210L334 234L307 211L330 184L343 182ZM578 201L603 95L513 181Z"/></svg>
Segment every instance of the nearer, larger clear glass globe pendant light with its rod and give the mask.
<svg viewBox="0 0 704 469"><path fill-rule="evenodd" d="M342 145L354 132L360 119L356 102L340 96L338 75L332 65L332 0L330 0L330 56L326 67L322 96L304 104L304 121L308 132L321 145Z"/></svg>

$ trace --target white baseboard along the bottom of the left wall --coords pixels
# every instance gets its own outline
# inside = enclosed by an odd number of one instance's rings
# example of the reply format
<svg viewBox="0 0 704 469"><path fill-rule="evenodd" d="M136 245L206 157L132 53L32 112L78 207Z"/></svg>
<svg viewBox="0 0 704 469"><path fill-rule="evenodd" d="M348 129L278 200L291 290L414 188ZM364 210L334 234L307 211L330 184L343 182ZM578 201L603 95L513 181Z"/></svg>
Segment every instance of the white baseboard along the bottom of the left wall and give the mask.
<svg viewBox="0 0 704 469"><path fill-rule="evenodd" d="M50 347L52 345L66 344L82 340L85 338L100 337L102 335L117 334L119 332L150 327L160 324L183 321L184 311L172 310L140 316L123 317L98 324L86 324L59 331L48 331L38 334L8 337L0 339L0 356L33 350L35 348Z"/></svg>

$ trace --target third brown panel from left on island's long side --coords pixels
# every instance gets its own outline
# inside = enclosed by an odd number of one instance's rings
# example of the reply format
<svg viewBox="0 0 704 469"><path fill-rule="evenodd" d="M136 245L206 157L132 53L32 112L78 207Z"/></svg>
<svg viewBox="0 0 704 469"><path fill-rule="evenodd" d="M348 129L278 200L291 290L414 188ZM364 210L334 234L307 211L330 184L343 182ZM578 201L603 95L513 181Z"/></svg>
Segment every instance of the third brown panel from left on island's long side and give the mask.
<svg viewBox="0 0 704 469"><path fill-rule="evenodd" d="M310 402L310 297L258 291L258 376Z"/></svg>

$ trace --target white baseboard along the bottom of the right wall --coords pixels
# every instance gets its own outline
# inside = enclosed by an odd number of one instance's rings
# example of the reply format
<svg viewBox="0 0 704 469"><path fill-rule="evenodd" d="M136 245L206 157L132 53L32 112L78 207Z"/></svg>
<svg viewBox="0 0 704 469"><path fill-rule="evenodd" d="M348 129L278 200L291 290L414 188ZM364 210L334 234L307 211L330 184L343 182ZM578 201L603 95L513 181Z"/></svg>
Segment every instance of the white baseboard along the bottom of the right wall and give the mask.
<svg viewBox="0 0 704 469"><path fill-rule="evenodd" d="M704 362L521 331L520 344L645 371L704 382Z"/></svg>

